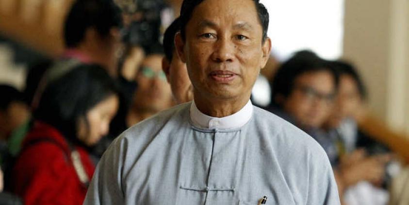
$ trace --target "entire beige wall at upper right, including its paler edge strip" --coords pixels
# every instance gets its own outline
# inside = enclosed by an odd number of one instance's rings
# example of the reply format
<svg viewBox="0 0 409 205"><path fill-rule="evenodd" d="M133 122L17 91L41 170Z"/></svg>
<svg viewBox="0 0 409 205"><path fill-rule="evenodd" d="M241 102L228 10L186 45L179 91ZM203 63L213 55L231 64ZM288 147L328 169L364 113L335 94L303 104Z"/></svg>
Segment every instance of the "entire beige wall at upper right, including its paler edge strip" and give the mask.
<svg viewBox="0 0 409 205"><path fill-rule="evenodd" d="M374 114L409 132L409 2L345 0L344 58L353 61Z"/></svg>

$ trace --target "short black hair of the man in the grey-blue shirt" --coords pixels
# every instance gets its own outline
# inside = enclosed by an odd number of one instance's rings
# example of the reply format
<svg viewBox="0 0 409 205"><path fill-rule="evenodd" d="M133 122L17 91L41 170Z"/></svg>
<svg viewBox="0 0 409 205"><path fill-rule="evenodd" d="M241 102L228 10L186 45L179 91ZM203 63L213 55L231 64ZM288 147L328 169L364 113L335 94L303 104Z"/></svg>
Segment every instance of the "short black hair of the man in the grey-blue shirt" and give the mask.
<svg viewBox="0 0 409 205"><path fill-rule="evenodd" d="M265 6L260 3L260 0L252 0L256 6L257 15L259 17L260 24L262 25L262 43L267 39L267 30L269 15ZM196 6L203 0L183 0L182 7L180 9L180 33L183 40L186 40L186 25L192 18L192 13Z"/></svg>

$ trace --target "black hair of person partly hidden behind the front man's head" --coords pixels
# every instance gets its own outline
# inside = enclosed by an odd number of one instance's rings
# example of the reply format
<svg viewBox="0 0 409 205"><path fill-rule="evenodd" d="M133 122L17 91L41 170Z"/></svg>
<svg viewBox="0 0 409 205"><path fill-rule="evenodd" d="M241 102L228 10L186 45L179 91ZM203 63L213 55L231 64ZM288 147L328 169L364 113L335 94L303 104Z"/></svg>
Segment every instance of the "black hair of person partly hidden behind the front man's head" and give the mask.
<svg viewBox="0 0 409 205"><path fill-rule="evenodd" d="M164 33L164 53L166 59L171 62L175 50L175 35L180 31L180 18L176 18Z"/></svg>

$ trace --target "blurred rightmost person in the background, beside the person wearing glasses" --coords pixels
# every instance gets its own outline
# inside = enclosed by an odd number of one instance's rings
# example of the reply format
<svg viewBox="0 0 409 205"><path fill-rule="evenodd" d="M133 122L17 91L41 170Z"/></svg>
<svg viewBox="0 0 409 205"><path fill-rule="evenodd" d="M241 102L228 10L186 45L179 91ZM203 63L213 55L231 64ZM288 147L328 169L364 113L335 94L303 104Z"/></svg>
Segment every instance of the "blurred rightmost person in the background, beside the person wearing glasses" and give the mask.
<svg viewBox="0 0 409 205"><path fill-rule="evenodd" d="M391 152L358 127L357 116L365 112L367 94L357 70L343 60L332 64L340 82L334 107L322 127L337 145L340 192L345 191L349 205L385 204L387 191L378 187L389 184L386 163L391 160Z"/></svg>

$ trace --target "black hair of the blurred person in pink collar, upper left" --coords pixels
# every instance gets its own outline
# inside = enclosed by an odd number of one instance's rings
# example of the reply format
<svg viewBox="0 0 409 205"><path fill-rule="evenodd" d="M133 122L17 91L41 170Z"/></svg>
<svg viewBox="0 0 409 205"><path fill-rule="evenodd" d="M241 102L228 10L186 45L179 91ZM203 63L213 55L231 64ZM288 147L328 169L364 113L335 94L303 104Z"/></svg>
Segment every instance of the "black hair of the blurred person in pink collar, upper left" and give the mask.
<svg viewBox="0 0 409 205"><path fill-rule="evenodd" d="M76 0L65 19L65 46L78 46L89 28L105 37L110 34L110 29L120 26L120 10L112 0Z"/></svg>

